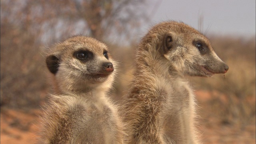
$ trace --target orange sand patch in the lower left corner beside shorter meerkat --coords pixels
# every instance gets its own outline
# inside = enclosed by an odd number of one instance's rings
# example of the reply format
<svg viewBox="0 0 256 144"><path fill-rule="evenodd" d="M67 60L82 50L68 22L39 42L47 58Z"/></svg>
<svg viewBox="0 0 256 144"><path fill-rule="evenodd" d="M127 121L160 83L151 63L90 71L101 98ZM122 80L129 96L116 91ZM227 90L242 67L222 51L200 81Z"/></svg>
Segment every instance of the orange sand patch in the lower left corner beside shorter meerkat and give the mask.
<svg viewBox="0 0 256 144"><path fill-rule="evenodd" d="M1 144L34 144L40 110L28 112L1 108Z"/></svg>

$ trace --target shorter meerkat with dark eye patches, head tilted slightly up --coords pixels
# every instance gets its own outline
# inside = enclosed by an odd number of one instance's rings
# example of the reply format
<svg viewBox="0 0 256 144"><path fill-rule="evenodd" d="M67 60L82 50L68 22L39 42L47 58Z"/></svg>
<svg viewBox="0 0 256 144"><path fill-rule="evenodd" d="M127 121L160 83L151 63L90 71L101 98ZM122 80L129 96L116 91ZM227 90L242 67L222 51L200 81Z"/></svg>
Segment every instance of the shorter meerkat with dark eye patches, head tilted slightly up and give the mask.
<svg viewBox="0 0 256 144"><path fill-rule="evenodd" d="M46 64L58 94L50 95L45 108L42 143L122 144L122 124L105 96L115 75L108 47L74 36L50 48Z"/></svg>

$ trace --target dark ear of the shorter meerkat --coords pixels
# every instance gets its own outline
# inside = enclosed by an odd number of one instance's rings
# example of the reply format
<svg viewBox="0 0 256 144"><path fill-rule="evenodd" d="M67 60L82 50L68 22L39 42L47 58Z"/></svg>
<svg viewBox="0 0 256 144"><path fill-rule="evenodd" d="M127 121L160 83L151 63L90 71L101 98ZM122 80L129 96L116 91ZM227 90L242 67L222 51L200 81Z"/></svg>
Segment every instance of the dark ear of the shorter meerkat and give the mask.
<svg viewBox="0 0 256 144"><path fill-rule="evenodd" d="M59 58L54 55L47 56L46 65L52 74L56 74L59 68Z"/></svg>

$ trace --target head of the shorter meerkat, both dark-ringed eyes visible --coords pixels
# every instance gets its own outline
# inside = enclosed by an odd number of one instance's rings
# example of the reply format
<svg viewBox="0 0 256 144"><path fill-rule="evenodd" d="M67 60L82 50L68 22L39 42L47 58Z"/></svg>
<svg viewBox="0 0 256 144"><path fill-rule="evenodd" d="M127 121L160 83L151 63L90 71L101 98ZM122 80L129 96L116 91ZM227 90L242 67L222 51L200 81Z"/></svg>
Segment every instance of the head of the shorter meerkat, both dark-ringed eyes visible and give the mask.
<svg viewBox="0 0 256 144"><path fill-rule="evenodd" d="M101 84L111 86L113 62L105 44L85 36L74 36L56 44L46 57L48 70L56 77L59 88L69 91Z"/></svg>

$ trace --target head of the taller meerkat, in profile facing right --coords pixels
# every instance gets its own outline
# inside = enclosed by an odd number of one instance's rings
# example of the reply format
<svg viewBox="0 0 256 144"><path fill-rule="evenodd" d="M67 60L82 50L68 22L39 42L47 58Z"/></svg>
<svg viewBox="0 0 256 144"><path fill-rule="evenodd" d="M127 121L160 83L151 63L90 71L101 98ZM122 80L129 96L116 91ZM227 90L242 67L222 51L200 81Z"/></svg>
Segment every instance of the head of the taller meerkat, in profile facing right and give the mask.
<svg viewBox="0 0 256 144"><path fill-rule="evenodd" d="M228 65L216 55L209 40L194 28L178 22L165 22L157 27L162 39L158 50L178 72L210 77L228 71Z"/></svg>

